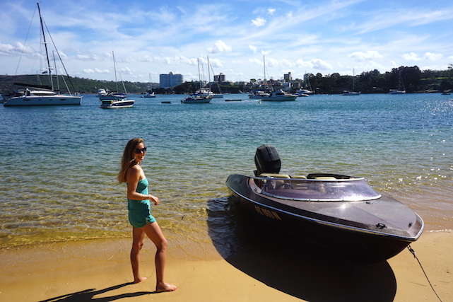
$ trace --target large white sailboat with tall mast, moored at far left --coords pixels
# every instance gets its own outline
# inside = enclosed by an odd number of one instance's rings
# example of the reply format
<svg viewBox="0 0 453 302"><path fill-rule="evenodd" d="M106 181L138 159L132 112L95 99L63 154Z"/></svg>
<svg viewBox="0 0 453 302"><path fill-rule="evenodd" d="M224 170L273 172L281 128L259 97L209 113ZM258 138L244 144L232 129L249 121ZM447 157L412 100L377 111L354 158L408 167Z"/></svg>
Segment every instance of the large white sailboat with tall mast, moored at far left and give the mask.
<svg viewBox="0 0 453 302"><path fill-rule="evenodd" d="M69 88L66 86L66 89L69 91L69 94L60 94L59 89L54 88L53 78L52 78L52 66L50 66L49 61L49 52L47 50L47 42L46 42L46 35L45 35L45 26L44 21L42 20L40 4L37 3L37 11L40 16L40 27L42 33L42 40L45 46L45 53L47 58L47 69L42 74L47 74L49 76L50 86L42 86L42 85L32 85L26 83L15 83L16 86L19 86L19 93L18 96L13 96L8 98L4 102L4 106L40 106L40 105L81 105L82 97L78 94L71 94ZM49 33L49 32L47 32ZM58 51L57 51L58 54ZM61 61L61 57L60 61ZM63 62L61 61L61 64ZM64 67L64 70L66 68ZM69 75L66 74L69 81ZM66 83L66 82L65 82Z"/></svg>

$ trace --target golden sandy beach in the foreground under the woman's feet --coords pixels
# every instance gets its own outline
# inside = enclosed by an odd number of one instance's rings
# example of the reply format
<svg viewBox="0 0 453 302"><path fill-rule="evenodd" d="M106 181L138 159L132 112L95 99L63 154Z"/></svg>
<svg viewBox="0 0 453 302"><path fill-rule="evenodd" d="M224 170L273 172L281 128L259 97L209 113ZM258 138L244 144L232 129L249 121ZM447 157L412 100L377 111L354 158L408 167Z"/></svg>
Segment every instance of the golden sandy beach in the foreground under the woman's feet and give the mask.
<svg viewBox="0 0 453 302"><path fill-rule="evenodd" d="M213 245L189 255L170 242L166 281L155 293L154 247L131 284L129 239L50 243L1 250L1 301L439 301L407 249L387 262L355 265L322 253L243 253L224 259ZM442 301L453 301L453 233L425 231L411 245Z"/></svg>

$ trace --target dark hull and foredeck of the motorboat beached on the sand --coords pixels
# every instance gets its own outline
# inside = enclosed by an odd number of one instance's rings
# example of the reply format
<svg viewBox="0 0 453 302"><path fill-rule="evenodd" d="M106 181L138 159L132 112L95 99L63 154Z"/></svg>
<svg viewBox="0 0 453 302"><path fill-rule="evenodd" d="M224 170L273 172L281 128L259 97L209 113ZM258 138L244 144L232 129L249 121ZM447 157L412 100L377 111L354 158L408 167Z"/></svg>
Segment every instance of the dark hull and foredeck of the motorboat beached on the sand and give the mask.
<svg viewBox="0 0 453 302"><path fill-rule="evenodd" d="M273 224L296 238L334 250L342 257L356 262L387 260L417 240L423 231L420 216L390 197L382 197L382 200L373 202L357 202L353 206L357 209L352 210L358 213L365 211L365 208L376 207L377 211L382 211L386 205L392 205L388 214L392 217L389 219L411 221L407 229L386 230L380 223L366 224L363 221L344 219L341 215L325 214L341 212L342 207L348 209L351 206L347 202L299 202L301 207L289 207L276 198L266 197L257 188L252 189L250 184L253 181L245 175L230 175L226 182L247 217Z"/></svg>

